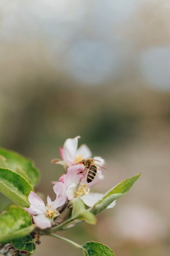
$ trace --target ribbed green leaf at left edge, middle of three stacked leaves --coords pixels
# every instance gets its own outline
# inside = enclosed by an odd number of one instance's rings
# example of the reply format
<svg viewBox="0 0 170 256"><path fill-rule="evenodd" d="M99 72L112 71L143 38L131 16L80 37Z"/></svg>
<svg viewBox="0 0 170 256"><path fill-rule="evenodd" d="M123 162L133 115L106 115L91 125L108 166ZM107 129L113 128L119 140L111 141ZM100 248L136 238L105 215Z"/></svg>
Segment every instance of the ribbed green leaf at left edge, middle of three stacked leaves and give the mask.
<svg viewBox="0 0 170 256"><path fill-rule="evenodd" d="M30 191L33 191L33 187L24 177L7 168L0 168L0 192L15 204L29 207Z"/></svg>

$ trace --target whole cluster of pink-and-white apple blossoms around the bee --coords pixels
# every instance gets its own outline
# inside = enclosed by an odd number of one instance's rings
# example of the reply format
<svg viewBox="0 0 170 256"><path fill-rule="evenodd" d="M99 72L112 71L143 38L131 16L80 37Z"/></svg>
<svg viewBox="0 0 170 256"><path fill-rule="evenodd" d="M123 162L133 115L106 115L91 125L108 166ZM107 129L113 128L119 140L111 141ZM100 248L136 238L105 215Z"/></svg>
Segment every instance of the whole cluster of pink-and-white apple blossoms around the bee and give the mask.
<svg viewBox="0 0 170 256"><path fill-rule="evenodd" d="M55 218L62 217L61 208L59 210L57 208L72 207L76 198L79 197L87 207L92 207L103 196L101 193L91 193L90 188L104 179L101 171L104 159L101 157L90 158L91 150L85 144L77 149L79 138L77 136L73 139L66 139L63 147L60 147L62 159L51 160L52 163L64 166L66 170L58 182L53 182L55 200L51 201L48 196L45 205L36 193L31 191L29 194L30 207L24 209L33 216L35 225L40 229L51 228L55 224ZM87 179L89 175L91 175L90 181ZM109 205L109 208L114 205L115 201ZM63 209L65 208L63 207Z"/></svg>

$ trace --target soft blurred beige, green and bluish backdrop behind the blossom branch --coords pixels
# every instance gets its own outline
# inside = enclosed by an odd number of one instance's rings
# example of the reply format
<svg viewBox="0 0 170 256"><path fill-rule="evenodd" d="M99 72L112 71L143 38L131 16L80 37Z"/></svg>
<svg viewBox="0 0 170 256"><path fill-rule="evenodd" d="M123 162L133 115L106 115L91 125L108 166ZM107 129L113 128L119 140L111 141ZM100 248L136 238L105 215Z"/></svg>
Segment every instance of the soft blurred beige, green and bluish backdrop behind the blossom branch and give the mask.
<svg viewBox="0 0 170 256"><path fill-rule="evenodd" d="M77 135L106 159L94 191L142 175L95 227L61 235L116 256L169 255L170 0L0 1L0 146L32 158L36 191L53 197L63 170L50 161ZM41 241L35 256L82 255Z"/></svg>

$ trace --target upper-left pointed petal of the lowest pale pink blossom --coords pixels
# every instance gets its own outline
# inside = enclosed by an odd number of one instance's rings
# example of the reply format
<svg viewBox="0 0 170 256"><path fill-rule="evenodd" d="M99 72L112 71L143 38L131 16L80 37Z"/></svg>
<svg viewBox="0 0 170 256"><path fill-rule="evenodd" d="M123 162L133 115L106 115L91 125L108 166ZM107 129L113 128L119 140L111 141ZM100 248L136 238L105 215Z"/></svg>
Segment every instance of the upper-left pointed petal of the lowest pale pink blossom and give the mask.
<svg viewBox="0 0 170 256"><path fill-rule="evenodd" d="M28 200L30 203L30 207L24 209L29 212L31 215L37 215L37 214L45 214L45 204L44 201L36 195L33 191L29 193Z"/></svg>

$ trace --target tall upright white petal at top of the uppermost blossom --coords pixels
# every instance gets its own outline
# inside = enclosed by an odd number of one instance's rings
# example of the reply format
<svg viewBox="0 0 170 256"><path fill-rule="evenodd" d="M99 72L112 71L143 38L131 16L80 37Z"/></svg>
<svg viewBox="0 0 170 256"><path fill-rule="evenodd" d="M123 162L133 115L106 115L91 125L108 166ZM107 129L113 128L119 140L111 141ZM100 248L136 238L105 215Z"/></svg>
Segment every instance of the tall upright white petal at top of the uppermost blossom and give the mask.
<svg viewBox="0 0 170 256"><path fill-rule="evenodd" d="M74 139L66 139L63 145L63 160L74 162L79 138L80 136L77 136Z"/></svg>

